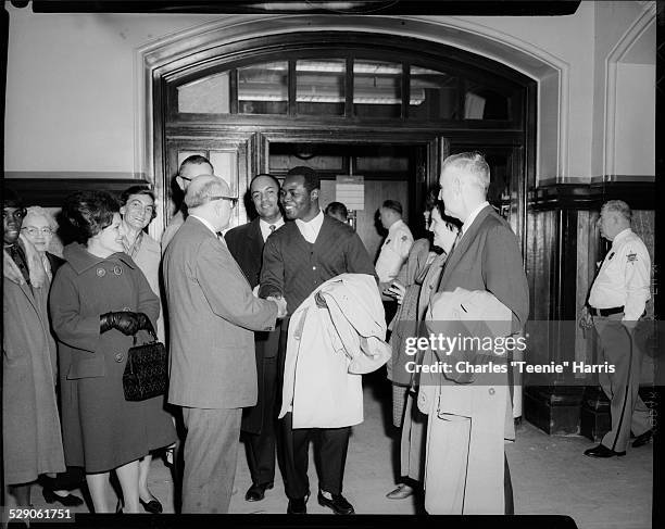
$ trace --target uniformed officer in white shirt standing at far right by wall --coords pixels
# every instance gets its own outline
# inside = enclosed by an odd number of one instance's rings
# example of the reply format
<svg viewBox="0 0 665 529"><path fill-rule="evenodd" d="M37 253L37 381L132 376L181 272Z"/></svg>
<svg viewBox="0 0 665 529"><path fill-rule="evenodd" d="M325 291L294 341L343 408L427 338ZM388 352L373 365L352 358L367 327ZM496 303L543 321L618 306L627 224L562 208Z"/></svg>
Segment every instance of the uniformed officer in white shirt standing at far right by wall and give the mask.
<svg viewBox="0 0 665 529"><path fill-rule="evenodd" d="M595 327L600 338L599 364L607 362L614 373L601 373L599 381L610 399L612 429L598 446L585 451L590 457L626 455L630 431L632 446L651 440L649 410L640 399L642 351L636 344L636 326L651 298L651 260L642 240L630 229L632 213L626 202L611 200L601 209L601 236L612 241L582 308L580 325Z"/></svg>

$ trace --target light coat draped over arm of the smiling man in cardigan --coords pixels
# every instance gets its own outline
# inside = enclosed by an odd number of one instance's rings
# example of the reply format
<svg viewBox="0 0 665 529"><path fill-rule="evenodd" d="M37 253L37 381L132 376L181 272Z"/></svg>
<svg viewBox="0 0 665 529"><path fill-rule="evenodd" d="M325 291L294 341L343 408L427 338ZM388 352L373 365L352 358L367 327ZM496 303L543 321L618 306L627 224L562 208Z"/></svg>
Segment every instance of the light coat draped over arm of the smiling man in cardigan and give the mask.
<svg viewBox="0 0 665 529"><path fill-rule="evenodd" d="M326 307L317 306L319 298ZM363 373L391 355L373 276L341 274L296 310L289 324L281 411L293 428L341 428L363 421Z"/></svg>

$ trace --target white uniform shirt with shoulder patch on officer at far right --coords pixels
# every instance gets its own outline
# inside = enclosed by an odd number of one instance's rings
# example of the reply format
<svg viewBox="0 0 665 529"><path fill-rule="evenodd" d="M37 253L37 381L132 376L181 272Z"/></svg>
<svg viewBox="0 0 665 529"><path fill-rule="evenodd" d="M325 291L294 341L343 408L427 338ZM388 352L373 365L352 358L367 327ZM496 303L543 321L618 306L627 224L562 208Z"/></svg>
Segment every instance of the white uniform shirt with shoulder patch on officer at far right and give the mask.
<svg viewBox="0 0 665 529"><path fill-rule="evenodd" d="M624 318L636 320L651 298L651 259L642 240L626 228L612 241L589 294L594 308L624 306Z"/></svg>

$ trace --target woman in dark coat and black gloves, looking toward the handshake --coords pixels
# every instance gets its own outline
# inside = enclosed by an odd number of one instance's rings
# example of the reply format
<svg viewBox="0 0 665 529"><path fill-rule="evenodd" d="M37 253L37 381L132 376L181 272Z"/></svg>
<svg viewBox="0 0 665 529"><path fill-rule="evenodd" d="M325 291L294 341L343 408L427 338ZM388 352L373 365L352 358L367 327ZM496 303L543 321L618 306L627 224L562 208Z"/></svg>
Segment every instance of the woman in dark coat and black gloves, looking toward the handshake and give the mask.
<svg viewBox="0 0 665 529"><path fill-rule="evenodd" d="M176 439L161 396L125 401L123 371L133 337L152 329L160 301L123 253L118 204L91 191L67 198L63 218L78 239L53 280L50 310L61 355L65 462L83 466L96 513L106 502L115 469L125 512L139 512L139 459ZM140 335L145 335L140 332Z"/></svg>

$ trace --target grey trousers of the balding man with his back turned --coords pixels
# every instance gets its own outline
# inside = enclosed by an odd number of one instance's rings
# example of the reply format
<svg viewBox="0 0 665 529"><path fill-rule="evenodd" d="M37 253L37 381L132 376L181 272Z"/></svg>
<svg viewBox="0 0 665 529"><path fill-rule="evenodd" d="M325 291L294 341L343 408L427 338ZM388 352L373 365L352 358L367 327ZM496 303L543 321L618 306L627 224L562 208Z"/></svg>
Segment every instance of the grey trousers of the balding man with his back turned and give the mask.
<svg viewBox="0 0 665 529"><path fill-rule="evenodd" d="M228 513L234 489L242 408L183 408L187 428L183 513Z"/></svg>

